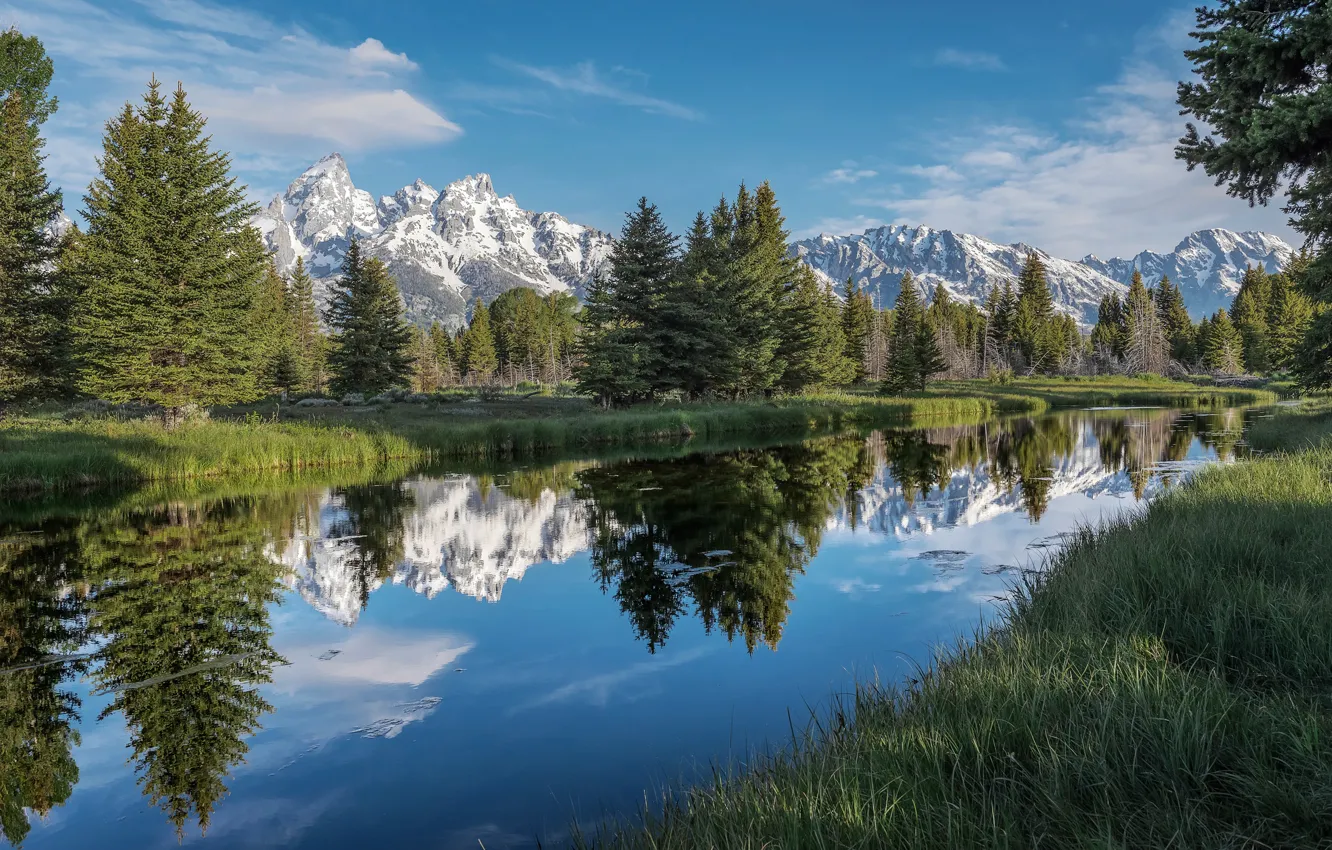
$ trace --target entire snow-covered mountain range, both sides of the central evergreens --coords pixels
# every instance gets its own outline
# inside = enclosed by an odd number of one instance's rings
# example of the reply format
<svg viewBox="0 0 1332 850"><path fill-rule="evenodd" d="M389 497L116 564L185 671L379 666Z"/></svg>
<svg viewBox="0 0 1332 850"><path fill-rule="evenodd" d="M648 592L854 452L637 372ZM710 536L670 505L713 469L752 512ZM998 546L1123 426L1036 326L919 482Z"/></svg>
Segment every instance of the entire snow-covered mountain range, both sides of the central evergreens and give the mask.
<svg viewBox="0 0 1332 850"><path fill-rule="evenodd" d="M582 297L614 244L609 233L553 212L529 212L511 195L500 197L489 175L464 177L442 191L417 180L374 200L356 187L337 153L308 168L253 222L281 272L290 273L297 257L305 260L321 302L356 237L388 264L412 321L453 328L465 321L473 298L489 302L514 286ZM1064 260L1023 242L1003 245L906 225L821 234L791 250L838 292L854 277L879 306L896 300L904 272L927 290L942 282L955 298L982 302L992 285L1015 281L1034 252L1046 262L1056 306L1083 325L1095 322L1103 296L1127 292L1134 270L1150 284L1168 274L1189 313L1201 318L1229 306L1245 266L1275 272L1295 253L1269 233L1212 229L1189 234L1169 253Z"/></svg>

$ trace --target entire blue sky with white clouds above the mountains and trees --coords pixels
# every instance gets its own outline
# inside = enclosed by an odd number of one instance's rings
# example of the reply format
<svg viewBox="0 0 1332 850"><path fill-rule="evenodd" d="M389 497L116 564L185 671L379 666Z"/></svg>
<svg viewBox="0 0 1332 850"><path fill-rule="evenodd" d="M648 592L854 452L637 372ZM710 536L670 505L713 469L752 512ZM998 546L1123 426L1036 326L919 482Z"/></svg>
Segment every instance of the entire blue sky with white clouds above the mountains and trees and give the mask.
<svg viewBox="0 0 1332 850"><path fill-rule="evenodd" d="M771 183L795 237L924 224L1058 256L1212 226L1296 244L1173 159L1197 0L0 0L60 111L47 168L81 207L107 119L181 83L266 203L341 152L380 196L476 172L618 232L677 230Z"/></svg>

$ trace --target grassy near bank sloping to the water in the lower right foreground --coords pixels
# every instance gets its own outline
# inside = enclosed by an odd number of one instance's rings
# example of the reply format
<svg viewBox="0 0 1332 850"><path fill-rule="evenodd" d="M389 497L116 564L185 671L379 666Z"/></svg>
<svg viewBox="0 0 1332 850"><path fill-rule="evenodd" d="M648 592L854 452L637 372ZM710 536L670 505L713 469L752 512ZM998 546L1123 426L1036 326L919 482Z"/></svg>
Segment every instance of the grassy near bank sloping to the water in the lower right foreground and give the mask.
<svg viewBox="0 0 1332 850"><path fill-rule="evenodd" d="M1279 453L1083 533L908 691L589 843L1328 846L1329 434L1328 402L1267 420Z"/></svg>

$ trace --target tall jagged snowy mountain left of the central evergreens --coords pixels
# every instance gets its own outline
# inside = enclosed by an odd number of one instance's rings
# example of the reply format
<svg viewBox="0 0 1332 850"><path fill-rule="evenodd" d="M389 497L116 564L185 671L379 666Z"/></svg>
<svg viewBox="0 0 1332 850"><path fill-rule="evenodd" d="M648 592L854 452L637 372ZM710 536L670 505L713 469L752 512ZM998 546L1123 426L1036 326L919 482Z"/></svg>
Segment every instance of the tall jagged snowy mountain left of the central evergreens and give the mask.
<svg viewBox="0 0 1332 850"><path fill-rule="evenodd" d="M500 197L489 175L442 192L417 180L376 201L356 188L338 153L308 168L254 226L281 272L305 260L321 301L352 238L361 240L397 278L410 320L450 326L464 321L473 298L489 302L514 286L582 296L613 244L601 230Z"/></svg>

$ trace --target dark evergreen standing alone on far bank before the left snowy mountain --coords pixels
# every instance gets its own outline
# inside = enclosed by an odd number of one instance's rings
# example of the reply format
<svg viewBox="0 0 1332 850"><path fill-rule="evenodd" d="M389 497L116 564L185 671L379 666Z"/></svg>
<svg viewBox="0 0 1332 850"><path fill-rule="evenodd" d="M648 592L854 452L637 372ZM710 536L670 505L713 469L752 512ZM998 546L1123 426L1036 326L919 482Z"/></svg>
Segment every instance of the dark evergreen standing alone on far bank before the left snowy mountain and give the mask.
<svg viewBox="0 0 1332 850"><path fill-rule="evenodd" d="M402 320L398 288L382 262L365 258L354 238L325 321L333 329L328 362L334 394L381 393L405 382L412 332Z"/></svg>

